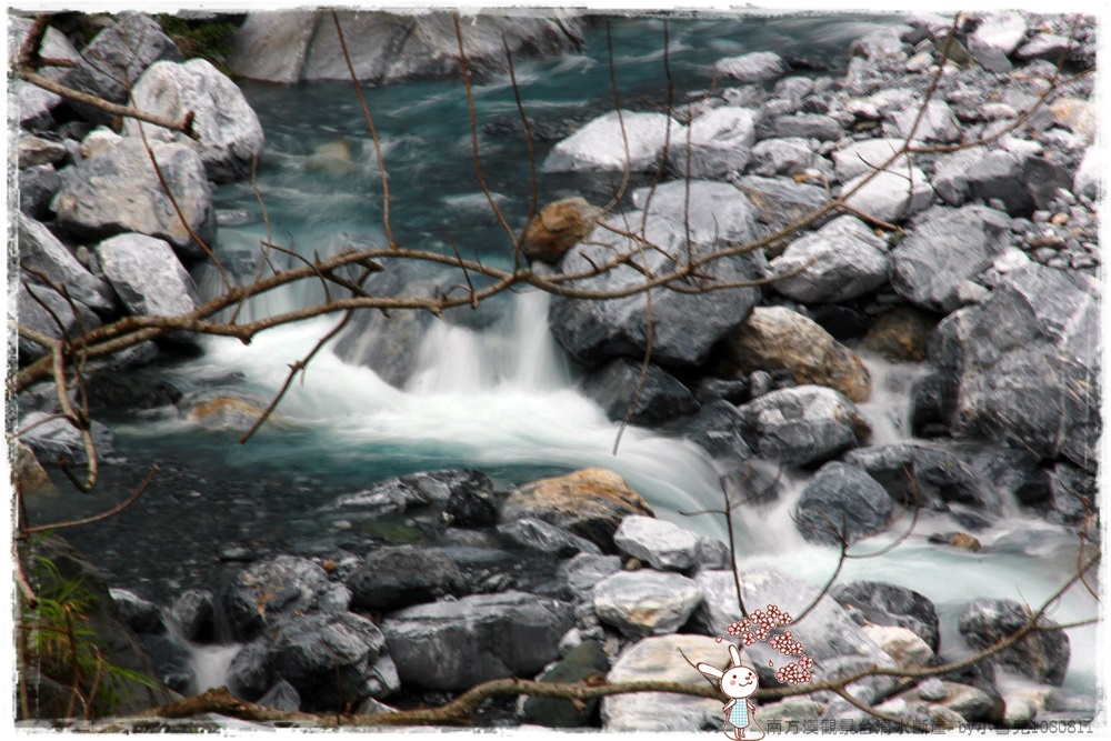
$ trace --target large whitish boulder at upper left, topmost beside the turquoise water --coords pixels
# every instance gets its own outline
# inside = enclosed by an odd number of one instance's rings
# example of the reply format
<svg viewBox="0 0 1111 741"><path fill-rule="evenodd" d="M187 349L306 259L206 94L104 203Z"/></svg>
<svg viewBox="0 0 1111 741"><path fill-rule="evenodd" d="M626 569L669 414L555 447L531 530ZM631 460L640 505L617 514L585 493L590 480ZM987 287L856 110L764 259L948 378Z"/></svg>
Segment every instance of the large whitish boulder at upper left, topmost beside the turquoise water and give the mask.
<svg viewBox="0 0 1111 741"><path fill-rule="evenodd" d="M251 161L262 153L266 138L259 117L236 83L203 59L183 64L156 62L139 78L131 94L137 108L173 121L193 113L193 130L200 141L149 124L143 124L143 130L150 140L196 147L204 171L216 182L247 177ZM138 136L139 122L128 119L123 130Z"/></svg>

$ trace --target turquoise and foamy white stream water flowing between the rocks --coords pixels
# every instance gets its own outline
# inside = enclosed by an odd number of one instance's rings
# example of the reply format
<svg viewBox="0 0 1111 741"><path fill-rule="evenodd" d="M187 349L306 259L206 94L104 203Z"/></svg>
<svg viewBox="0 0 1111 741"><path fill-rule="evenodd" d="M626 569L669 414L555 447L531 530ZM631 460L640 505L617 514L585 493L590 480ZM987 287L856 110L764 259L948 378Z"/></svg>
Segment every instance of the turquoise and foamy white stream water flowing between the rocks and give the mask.
<svg viewBox="0 0 1111 741"><path fill-rule="evenodd" d="M745 18L739 22L675 19L669 26L675 100L711 84L710 66L727 54L774 49L843 69L848 42L882 19L837 17ZM623 104L651 110L667 100L663 24L659 20L613 23L614 64ZM559 59L519 60L518 81L531 117L559 127L612 108L602 28L588 48ZM382 196L373 147L361 109L344 83L279 87L246 83L263 122L267 149L258 173L272 239L302 256L331 254L349 246L381 246ZM517 113L507 77L474 90L480 131ZM407 247L450 251L511 266L504 232L478 187L471 160L469 118L458 81L413 82L367 90L376 116L392 191L391 226ZM530 177L520 136L480 133L482 168L496 201L514 228L528 212ZM551 142L538 142L541 161ZM541 176L540 202L584 194L603 202L608 176ZM218 254L240 277L257 270L259 240L268 234L250 183L221 188ZM276 256L277 259L277 256ZM196 278L202 293L220 288L212 270ZM247 306L248 320L319 300L308 282ZM419 349L417 371L394 388L372 371L348 364L326 349L292 387L274 421L246 445L238 433L212 431L173 413L112 420L114 465L104 485L81 499L69 495L39 505L67 517L114 503L151 461L162 470L151 490L117 518L76 532L73 540L108 568L121 585L168 599L189 587L211 587L218 569L242 568L237 549L298 548L311 551L337 523L319 508L384 478L420 470L469 465L502 487L604 465L623 475L660 517L724 539L717 517L684 511L720 505L720 471L697 447L629 428L614 454L618 425L575 388L578 374L547 331L547 297L522 291L497 304L499 318L484 329L433 323ZM269 398L288 366L313 347L336 318L318 318L260 334L250 346L207 339L203 352L166 370L184 388L232 385ZM863 410L873 442L908 438L907 390L919 369L868 360L875 394ZM770 505L744 510L739 551L822 583L835 568L831 549L807 543L791 521L802 480L787 480ZM1018 510L981 533L979 553L927 543L934 531L921 522L890 553L854 559L842 580L888 580L932 599L943 613L973 597L1007 597L1039 604L1075 564L1075 538L1031 521ZM937 523L944 529L947 523ZM898 530L898 529L895 529ZM893 537L893 535L891 535ZM883 539L870 543L879 550ZM862 549L868 550L868 549ZM218 557L222 561L218 561ZM230 561L230 563L228 563ZM1092 613L1090 599L1070 594L1052 617L1068 622ZM1068 684L1095 685L1094 628L1070 631ZM203 657L219 681L228 655Z"/></svg>

